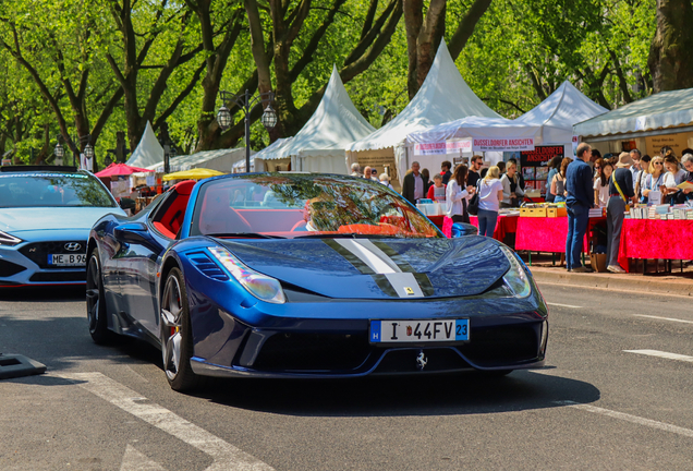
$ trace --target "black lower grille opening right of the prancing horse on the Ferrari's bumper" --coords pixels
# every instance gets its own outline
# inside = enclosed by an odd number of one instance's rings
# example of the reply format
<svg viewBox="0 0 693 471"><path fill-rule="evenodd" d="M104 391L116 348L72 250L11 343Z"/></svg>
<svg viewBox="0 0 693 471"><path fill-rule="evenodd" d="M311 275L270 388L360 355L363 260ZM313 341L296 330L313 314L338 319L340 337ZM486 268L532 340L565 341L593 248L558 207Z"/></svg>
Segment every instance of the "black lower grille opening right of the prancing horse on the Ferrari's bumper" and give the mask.
<svg viewBox="0 0 693 471"><path fill-rule="evenodd" d="M458 350L479 366L510 365L539 354L540 324L472 328L470 342Z"/></svg>

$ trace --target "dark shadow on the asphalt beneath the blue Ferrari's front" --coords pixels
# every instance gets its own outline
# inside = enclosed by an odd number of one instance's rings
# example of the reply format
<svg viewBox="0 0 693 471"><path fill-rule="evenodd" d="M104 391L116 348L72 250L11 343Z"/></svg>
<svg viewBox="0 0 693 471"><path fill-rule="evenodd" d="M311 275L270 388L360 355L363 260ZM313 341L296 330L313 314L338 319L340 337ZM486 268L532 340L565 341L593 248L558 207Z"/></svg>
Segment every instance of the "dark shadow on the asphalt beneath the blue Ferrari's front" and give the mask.
<svg viewBox="0 0 693 471"><path fill-rule="evenodd" d="M500 378L474 373L353 381L215 381L199 397L263 412L302 416L399 416L496 413L599 399L584 382L518 371Z"/></svg>

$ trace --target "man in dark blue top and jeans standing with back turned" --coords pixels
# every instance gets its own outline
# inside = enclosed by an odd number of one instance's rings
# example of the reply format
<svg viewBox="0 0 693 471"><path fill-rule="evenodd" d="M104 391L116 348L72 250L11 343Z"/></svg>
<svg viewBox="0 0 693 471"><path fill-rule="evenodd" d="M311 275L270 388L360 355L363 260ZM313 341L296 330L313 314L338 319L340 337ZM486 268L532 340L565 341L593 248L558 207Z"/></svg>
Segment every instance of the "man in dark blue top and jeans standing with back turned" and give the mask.
<svg viewBox="0 0 693 471"><path fill-rule="evenodd" d="M589 208L594 206L592 167L592 147L587 143L578 146L578 158L566 170L566 206L568 209L568 237L566 238L566 265L568 271L593 271L582 266L580 255L582 242L589 222Z"/></svg>

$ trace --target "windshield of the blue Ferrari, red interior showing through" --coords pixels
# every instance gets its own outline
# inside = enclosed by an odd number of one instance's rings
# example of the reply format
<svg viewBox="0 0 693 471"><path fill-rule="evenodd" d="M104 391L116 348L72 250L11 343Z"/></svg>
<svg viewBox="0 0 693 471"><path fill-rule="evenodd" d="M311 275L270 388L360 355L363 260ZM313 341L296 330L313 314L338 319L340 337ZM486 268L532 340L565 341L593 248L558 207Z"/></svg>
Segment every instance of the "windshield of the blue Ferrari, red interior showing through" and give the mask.
<svg viewBox="0 0 693 471"><path fill-rule="evenodd" d="M266 173L202 184L191 235L437 238L438 229L378 182Z"/></svg>

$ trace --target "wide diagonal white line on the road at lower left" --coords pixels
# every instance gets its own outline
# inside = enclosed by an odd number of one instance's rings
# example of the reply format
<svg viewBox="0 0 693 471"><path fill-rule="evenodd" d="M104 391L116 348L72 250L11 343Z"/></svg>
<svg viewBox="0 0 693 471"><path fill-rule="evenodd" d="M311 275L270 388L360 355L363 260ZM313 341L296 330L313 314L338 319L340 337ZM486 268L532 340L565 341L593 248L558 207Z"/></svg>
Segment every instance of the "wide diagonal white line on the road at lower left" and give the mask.
<svg viewBox="0 0 693 471"><path fill-rule="evenodd" d="M155 427L214 458L206 471L270 471L273 468L210 434L204 428L154 402L101 373L66 373L60 375L77 386L135 415ZM147 401L147 403L143 403ZM146 468L145 468L146 469Z"/></svg>

